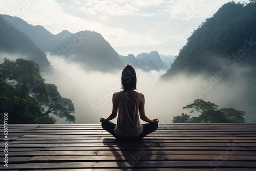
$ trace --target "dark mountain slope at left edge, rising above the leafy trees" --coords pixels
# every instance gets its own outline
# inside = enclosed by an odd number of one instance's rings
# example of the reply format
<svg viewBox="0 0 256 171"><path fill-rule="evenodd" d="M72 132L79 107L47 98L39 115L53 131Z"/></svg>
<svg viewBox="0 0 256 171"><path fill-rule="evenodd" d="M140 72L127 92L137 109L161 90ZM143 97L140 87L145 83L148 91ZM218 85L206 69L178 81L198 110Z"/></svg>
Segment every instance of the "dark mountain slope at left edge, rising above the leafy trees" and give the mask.
<svg viewBox="0 0 256 171"><path fill-rule="evenodd" d="M40 69L50 66L46 54L24 33L18 31L0 15L0 52L34 60ZM1 58L1 56L0 56Z"/></svg>

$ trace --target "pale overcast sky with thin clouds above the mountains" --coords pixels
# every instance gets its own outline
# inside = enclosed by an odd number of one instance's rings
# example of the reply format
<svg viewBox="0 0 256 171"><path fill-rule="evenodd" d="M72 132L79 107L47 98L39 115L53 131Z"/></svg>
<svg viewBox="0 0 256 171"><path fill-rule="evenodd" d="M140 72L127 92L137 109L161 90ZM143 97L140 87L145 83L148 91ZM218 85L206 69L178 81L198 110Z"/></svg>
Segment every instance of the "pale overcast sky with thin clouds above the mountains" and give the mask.
<svg viewBox="0 0 256 171"><path fill-rule="evenodd" d="M62 30L100 33L120 54L178 55L193 30L226 0L0 0L0 13ZM243 1L235 1L243 2ZM245 2L248 2L245 1Z"/></svg>

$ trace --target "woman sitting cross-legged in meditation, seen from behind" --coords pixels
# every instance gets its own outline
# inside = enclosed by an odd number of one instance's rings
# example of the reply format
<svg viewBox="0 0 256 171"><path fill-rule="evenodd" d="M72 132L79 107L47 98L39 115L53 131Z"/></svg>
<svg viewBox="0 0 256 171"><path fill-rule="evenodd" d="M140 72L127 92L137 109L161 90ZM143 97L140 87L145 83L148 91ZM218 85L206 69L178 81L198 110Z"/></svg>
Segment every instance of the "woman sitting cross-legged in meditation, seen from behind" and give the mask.
<svg viewBox="0 0 256 171"><path fill-rule="evenodd" d="M136 90L137 77L132 66L127 65L122 71L122 90L113 94L112 114L104 119L100 118L101 126L111 133L117 140L140 140L147 134L157 130L159 119L149 119L145 115L145 98ZM110 120L117 116L117 124ZM146 124L140 124L142 119Z"/></svg>

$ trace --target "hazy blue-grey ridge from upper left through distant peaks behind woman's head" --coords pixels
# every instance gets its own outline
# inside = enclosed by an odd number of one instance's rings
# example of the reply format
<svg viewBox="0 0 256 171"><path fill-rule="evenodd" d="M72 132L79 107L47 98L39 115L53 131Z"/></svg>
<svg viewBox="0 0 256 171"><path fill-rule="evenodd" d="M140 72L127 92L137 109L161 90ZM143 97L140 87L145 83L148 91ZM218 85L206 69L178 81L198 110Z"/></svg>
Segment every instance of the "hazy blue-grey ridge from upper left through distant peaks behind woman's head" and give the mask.
<svg viewBox="0 0 256 171"><path fill-rule="evenodd" d="M150 54L142 53L136 58L119 55L106 41L101 34L94 31L80 31L71 33L67 30L54 35L42 26L33 26L25 20L9 15L2 15L10 26L18 29L30 37L37 47L52 55L62 55L74 62L79 62L86 70L113 71L121 69L126 64L135 66L144 71L167 70L170 68L167 63L161 60L158 52ZM79 41L74 42L79 37ZM79 44L79 46L76 45ZM135 57L135 56L134 56ZM121 59L121 60L120 60ZM170 59L172 60L172 59ZM166 61L166 60L165 60Z"/></svg>

